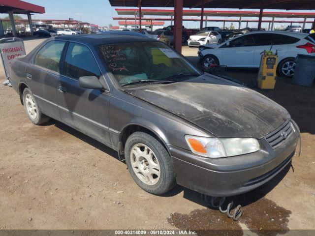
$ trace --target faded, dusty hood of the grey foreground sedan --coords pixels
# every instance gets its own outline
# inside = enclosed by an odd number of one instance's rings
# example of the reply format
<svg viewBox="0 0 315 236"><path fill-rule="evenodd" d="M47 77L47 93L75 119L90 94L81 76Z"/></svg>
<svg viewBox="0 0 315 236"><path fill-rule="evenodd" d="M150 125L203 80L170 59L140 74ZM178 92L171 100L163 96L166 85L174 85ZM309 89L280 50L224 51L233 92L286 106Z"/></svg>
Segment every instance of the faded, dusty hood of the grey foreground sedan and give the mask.
<svg viewBox="0 0 315 236"><path fill-rule="evenodd" d="M260 139L290 118L282 106L260 93L210 74L126 92L217 137Z"/></svg>

